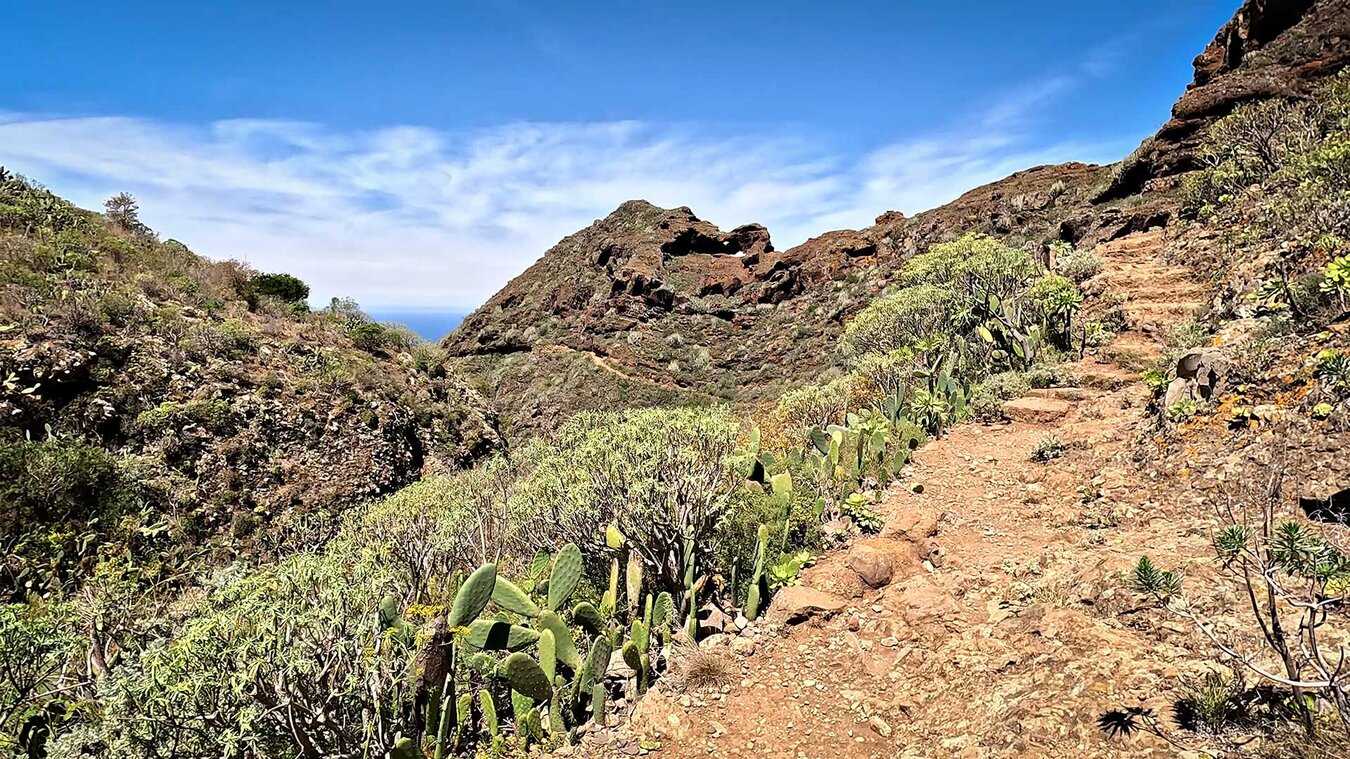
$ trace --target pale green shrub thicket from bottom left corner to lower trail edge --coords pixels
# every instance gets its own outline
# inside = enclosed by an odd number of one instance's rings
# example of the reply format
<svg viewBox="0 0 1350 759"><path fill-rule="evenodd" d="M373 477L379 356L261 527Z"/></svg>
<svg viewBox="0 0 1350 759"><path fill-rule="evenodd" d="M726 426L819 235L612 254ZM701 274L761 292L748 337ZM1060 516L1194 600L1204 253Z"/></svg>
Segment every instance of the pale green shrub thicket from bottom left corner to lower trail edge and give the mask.
<svg viewBox="0 0 1350 759"><path fill-rule="evenodd" d="M405 737L456 751L564 740L586 709L603 713L594 689L609 655L589 673L579 656L612 646L629 660L632 646L632 686L645 687L670 636L699 633L703 602L756 613L774 587L772 555L814 539L819 515L802 505L813 485L799 492L788 474L801 462L764 474L767 454L738 446L742 436L724 409L582 415L509 458L400 492L319 551L217 575L200 597L136 596L140 570L107 559L77 604L49 593L4 608L0 636L50 666L7 693L0 740L38 731L53 736L53 756L204 758L378 755ZM580 547L566 593L556 567L543 582L539 559L560 544ZM500 587L520 597L491 596L495 619L516 625L502 635L522 643L495 643L487 617L487 637L479 623L460 629L468 617L454 621L464 575L481 565L517 578L518 593ZM509 651L475 652L498 646L537 647L537 666L567 683L552 696L521 686L513 671L525 664ZM428 683L429 658L441 664ZM441 690L446 704L473 698L437 739L428 698L440 709ZM486 702L514 710L490 720Z"/></svg>

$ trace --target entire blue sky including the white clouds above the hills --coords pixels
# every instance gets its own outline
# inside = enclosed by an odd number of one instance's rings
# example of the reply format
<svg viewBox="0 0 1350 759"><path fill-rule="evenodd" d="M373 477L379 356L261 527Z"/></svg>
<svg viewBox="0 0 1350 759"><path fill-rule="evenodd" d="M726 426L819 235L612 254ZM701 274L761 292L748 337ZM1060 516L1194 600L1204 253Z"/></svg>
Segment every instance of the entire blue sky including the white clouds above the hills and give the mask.
<svg viewBox="0 0 1350 759"><path fill-rule="evenodd" d="M7 0L0 163L316 300L473 308L630 197L779 246L1165 119L1238 0Z"/></svg>

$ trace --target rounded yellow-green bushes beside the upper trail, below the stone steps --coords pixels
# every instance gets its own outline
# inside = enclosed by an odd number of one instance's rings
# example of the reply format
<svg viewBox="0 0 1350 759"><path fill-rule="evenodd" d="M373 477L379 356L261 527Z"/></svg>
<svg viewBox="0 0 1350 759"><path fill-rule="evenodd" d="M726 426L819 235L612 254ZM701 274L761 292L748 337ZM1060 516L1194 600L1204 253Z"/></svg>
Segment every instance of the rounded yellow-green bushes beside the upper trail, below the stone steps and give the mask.
<svg viewBox="0 0 1350 759"><path fill-rule="evenodd" d="M1058 251L1076 278L1100 270L1071 246ZM900 281L845 327L840 351L850 373L786 394L784 424L852 427L850 416L880 412L938 435L968 416L996 419L1003 401L1031 386L1030 375L1050 374L1060 352L1083 339L1073 280L992 238L936 244L906 262Z"/></svg>

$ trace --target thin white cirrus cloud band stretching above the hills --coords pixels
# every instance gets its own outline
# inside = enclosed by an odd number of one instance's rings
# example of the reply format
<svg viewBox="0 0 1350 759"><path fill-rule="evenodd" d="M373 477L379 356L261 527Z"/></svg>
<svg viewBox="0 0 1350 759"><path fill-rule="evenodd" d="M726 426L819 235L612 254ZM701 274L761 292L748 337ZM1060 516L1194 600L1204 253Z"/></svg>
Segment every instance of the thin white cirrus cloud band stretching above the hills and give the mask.
<svg viewBox="0 0 1350 759"><path fill-rule="evenodd" d="M802 136L639 122L339 132L277 120L0 113L0 163L86 207L131 192L166 236L294 273L316 300L467 309L633 197L688 205L724 228L760 221L786 247L887 209L932 208L1037 163L1123 153L1129 140L1030 140L1021 115L1066 86L1052 80L1000 103L969 134L853 158Z"/></svg>

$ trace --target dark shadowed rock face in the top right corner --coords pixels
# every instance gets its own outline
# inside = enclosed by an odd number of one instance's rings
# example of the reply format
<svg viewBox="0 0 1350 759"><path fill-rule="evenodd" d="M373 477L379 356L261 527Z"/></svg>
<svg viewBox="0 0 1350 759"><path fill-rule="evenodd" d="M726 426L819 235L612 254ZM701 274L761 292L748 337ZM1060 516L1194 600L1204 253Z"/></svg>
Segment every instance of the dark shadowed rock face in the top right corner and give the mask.
<svg viewBox="0 0 1350 759"><path fill-rule="evenodd" d="M1100 200L1195 167L1206 127L1239 104L1305 97L1350 63L1350 0L1246 0L1195 59L1195 80L1139 161Z"/></svg>

